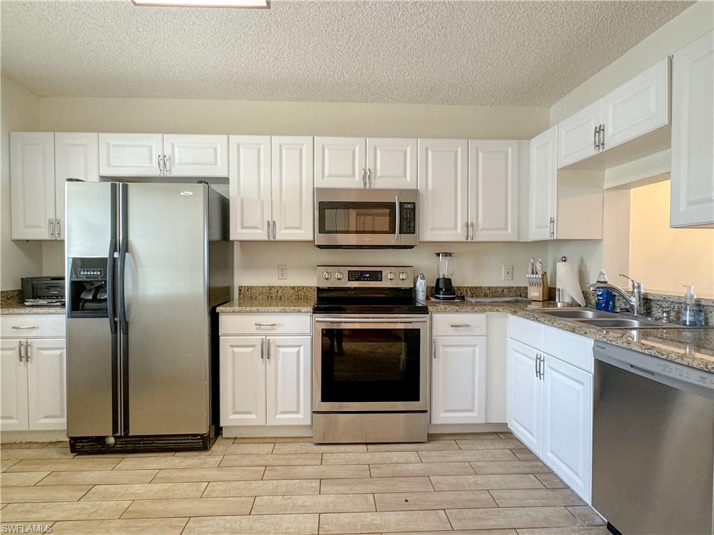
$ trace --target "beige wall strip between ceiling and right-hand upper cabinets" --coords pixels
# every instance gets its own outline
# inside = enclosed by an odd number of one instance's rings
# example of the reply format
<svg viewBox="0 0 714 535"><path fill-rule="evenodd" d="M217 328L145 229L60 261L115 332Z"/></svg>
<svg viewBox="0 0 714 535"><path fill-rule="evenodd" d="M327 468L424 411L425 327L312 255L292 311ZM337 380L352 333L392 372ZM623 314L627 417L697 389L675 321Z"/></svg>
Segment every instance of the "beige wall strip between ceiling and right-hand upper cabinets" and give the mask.
<svg viewBox="0 0 714 535"><path fill-rule="evenodd" d="M595 102L713 27L714 2L698 1L553 104L550 124L554 125Z"/></svg>

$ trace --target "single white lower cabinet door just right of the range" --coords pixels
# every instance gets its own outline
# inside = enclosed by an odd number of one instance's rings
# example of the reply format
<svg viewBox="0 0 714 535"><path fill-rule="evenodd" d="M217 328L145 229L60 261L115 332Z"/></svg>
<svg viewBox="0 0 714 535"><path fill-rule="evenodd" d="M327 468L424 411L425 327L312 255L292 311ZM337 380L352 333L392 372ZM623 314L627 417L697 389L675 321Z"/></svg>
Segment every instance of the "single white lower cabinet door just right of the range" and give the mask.
<svg viewBox="0 0 714 535"><path fill-rule="evenodd" d="M431 423L486 422L486 337L434 338Z"/></svg>

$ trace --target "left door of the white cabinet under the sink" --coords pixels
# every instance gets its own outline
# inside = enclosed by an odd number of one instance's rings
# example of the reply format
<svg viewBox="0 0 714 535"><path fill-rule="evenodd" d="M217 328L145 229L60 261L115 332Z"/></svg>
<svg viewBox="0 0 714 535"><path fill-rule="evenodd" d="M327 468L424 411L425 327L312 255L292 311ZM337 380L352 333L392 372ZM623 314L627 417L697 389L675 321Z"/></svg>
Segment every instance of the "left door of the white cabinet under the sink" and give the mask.
<svg viewBox="0 0 714 535"><path fill-rule="evenodd" d="M533 347L508 340L506 414L508 428L535 454L540 455L543 433L543 382L535 377Z"/></svg>

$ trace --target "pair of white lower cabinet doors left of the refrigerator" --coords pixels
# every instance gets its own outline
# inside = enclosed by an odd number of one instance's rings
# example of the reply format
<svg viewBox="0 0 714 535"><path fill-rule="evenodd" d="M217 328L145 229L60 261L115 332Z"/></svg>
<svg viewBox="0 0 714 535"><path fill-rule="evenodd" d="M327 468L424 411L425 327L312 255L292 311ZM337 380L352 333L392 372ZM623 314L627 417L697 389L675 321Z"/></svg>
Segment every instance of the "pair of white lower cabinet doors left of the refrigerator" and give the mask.
<svg viewBox="0 0 714 535"><path fill-rule="evenodd" d="M0 340L0 429L67 427L64 338Z"/></svg>

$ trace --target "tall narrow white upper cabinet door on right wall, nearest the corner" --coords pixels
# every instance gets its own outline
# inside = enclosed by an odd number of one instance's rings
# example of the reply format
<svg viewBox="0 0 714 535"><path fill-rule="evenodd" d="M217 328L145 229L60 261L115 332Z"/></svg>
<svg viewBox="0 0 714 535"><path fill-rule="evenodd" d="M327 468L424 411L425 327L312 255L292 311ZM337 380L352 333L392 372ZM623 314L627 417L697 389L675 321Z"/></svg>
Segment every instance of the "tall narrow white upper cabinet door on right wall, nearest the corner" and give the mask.
<svg viewBox="0 0 714 535"><path fill-rule="evenodd" d="M558 126L531 140L531 198L528 235L531 240L555 238L558 200Z"/></svg>

